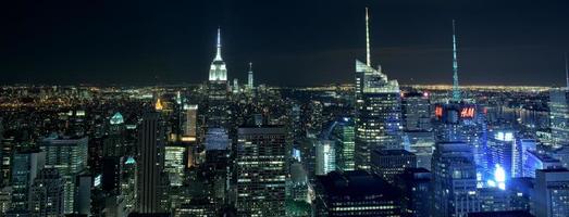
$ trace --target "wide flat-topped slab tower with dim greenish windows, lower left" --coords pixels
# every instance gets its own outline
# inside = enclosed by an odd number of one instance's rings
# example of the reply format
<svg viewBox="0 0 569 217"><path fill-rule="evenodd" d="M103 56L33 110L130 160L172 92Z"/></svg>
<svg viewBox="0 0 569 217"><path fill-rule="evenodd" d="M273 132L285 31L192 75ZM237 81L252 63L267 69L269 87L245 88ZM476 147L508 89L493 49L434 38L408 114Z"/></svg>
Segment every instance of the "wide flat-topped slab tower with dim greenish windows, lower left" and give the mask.
<svg viewBox="0 0 569 217"><path fill-rule="evenodd" d="M58 137L45 139L40 146L46 152L46 167L57 168L63 178L65 214L74 212L77 194L76 177L87 168L88 138Z"/></svg>

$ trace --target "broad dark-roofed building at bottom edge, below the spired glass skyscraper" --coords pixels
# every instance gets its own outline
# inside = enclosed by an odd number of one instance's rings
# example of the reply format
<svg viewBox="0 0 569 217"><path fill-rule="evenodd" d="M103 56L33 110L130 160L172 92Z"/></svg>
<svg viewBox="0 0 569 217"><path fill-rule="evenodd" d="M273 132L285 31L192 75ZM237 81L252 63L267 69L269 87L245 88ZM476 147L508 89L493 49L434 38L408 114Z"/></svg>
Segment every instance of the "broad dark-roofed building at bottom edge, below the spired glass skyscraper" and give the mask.
<svg viewBox="0 0 569 217"><path fill-rule="evenodd" d="M399 190L364 170L317 177L317 216L399 216Z"/></svg>

